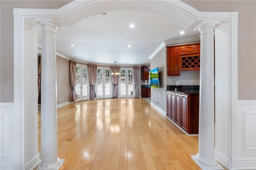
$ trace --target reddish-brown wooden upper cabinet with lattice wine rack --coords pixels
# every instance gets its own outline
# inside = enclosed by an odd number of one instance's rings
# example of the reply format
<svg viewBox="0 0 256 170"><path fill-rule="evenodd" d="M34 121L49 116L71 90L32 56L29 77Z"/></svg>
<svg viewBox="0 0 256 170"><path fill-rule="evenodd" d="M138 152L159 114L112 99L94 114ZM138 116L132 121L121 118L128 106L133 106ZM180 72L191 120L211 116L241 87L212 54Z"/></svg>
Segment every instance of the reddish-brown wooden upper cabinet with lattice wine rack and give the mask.
<svg viewBox="0 0 256 170"><path fill-rule="evenodd" d="M167 47L167 75L200 69L200 43Z"/></svg>

